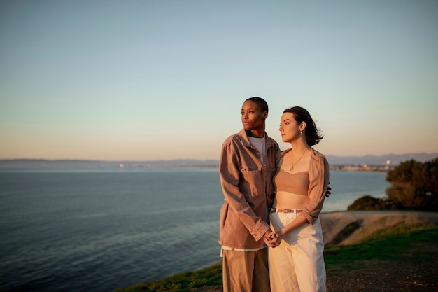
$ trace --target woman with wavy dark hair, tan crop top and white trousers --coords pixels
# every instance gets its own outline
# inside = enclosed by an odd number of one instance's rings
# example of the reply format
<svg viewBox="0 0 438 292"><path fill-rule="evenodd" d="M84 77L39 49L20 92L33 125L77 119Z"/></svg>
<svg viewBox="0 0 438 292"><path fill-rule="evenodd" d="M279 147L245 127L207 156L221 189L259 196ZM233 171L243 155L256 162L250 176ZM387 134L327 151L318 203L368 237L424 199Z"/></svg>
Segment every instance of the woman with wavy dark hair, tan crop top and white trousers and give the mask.
<svg viewBox="0 0 438 292"><path fill-rule="evenodd" d="M279 130L283 142L292 148L278 156L274 175L276 195L269 216L274 231L271 239L265 239L270 246L271 291L325 292L319 214L329 167L324 155L312 148L323 136L309 112L300 106L283 111Z"/></svg>

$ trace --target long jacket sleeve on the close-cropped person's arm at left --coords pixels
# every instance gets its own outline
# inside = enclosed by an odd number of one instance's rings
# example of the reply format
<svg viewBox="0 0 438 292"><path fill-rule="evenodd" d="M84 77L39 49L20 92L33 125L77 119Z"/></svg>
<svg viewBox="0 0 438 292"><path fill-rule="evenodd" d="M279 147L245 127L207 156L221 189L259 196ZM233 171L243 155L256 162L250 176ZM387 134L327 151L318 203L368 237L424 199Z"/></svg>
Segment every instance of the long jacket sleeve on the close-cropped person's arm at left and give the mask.
<svg viewBox="0 0 438 292"><path fill-rule="evenodd" d="M251 209L248 200L239 188L241 170L239 156L230 141L222 145L220 153L219 171L220 183L225 201L229 204L229 209L245 225L256 241L260 240L264 233L269 230L269 225L262 218L257 216Z"/></svg>

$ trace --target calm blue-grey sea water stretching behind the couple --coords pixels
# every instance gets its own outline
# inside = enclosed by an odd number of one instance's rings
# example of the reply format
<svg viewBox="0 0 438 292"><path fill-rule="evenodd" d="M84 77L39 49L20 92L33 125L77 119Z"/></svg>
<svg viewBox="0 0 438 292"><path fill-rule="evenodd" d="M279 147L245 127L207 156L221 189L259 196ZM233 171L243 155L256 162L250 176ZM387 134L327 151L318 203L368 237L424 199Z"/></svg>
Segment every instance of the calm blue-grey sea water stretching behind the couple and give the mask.
<svg viewBox="0 0 438 292"><path fill-rule="evenodd" d="M383 172L331 172L323 211L383 197ZM0 291L111 292L220 260L217 169L0 172Z"/></svg>

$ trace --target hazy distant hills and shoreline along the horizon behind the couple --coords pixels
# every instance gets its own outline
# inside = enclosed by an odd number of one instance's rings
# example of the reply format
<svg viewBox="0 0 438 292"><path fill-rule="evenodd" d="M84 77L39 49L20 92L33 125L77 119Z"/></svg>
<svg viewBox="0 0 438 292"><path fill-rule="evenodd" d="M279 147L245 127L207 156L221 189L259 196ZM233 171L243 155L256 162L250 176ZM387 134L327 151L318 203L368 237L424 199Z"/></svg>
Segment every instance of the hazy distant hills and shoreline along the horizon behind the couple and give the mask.
<svg viewBox="0 0 438 292"><path fill-rule="evenodd" d="M400 162L416 160L425 162L438 158L438 153L408 153L365 156L326 155L330 165L399 165ZM218 167L219 160L150 160L150 161L104 161L104 160L0 160L0 168L97 168L97 167Z"/></svg>

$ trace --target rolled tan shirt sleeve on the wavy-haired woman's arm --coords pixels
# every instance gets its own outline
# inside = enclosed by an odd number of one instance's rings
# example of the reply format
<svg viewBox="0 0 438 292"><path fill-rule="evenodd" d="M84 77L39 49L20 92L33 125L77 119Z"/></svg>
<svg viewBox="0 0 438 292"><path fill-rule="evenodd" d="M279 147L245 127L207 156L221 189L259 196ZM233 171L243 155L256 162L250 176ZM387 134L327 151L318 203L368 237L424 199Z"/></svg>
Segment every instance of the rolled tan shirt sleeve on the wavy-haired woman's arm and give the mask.
<svg viewBox="0 0 438 292"><path fill-rule="evenodd" d="M323 155L313 159L309 169L309 204L299 216L306 217L309 224L313 224L323 209L325 192L329 182L329 165Z"/></svg>

